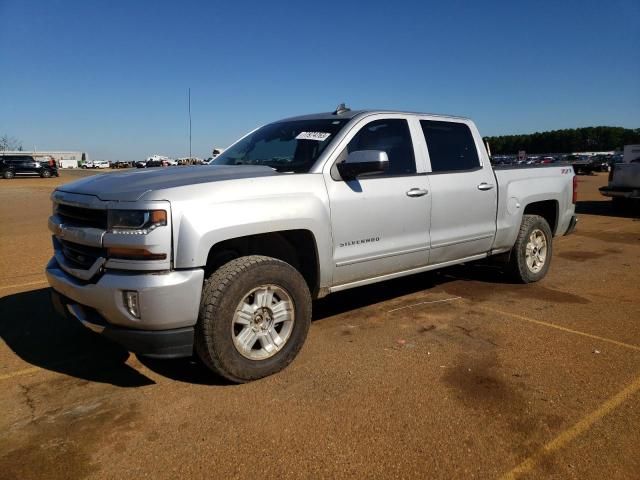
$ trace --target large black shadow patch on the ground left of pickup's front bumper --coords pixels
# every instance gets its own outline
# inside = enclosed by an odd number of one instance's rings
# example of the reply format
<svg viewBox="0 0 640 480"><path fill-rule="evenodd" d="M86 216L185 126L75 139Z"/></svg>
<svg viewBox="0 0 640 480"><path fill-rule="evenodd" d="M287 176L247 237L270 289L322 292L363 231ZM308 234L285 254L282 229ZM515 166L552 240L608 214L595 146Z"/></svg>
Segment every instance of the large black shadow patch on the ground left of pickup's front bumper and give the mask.
<svg viewBox="0 0 640 480"><path fill-rule="evenodd" d="M60 317L48 288L0 298L0 338L22 360L45 370L119 387L154 383L125 363L129 352Z"/></svg>

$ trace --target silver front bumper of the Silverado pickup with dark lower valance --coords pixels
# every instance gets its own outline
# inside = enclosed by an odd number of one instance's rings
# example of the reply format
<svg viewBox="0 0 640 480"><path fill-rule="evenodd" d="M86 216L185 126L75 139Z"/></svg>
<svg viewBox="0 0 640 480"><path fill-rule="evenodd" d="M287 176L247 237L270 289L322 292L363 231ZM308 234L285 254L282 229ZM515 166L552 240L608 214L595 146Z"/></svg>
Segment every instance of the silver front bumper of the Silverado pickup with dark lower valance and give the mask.
<svg viewBox="0 0 640 480"><path fill-rule="evenodd" d="M155 273L107 271L86 283L52 258L46 275L56 310L129 351L154 357L183 357L193 351L204 271ZM140 318L129 313L125 291L138 292Z"/></svg>

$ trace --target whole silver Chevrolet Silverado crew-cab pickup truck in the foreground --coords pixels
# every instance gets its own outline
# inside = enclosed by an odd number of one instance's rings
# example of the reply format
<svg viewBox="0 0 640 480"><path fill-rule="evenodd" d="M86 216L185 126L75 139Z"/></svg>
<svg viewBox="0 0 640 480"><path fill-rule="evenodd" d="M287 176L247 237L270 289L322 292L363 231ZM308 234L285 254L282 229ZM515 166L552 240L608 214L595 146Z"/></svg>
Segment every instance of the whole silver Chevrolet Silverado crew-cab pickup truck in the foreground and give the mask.
<svg viewBox="0 0 640 480"><path fill-rule="evenodd" d="M469 119L339 108L260 127L212 165L59 187L46 274L91 330L244 382L293 360L331 292L489 256L540 280L575 188L570 166L494 170Z"/></svg>

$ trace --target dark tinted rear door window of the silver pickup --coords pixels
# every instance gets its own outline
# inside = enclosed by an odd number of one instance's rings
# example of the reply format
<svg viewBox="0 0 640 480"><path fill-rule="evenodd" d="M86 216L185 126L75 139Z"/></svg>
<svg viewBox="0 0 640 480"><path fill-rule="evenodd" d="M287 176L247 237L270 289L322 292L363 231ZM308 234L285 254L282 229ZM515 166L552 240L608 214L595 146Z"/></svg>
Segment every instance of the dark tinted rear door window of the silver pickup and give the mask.
<svg viewBox="0 0 640 480"><path fill-rule="evenodd" d="M464 123L420 120L433 172L473 170L480 166L471 130Z"/></svg>

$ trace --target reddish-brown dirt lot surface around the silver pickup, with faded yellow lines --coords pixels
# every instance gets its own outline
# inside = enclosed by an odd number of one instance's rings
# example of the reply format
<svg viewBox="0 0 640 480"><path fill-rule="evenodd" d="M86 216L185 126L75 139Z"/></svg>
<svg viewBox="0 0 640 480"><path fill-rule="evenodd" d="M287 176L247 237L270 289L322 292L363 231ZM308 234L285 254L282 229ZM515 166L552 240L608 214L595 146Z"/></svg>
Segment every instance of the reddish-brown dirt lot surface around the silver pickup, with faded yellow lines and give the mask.
<svg viewBox="0 0 640 480"><path fill-rule="evenodd" d="M48 197L89 173L0 181L0 478L640 476L640 222L606 174L542 282L468 265L329 296L289 368L237 386L53 313Z"/></svg>

